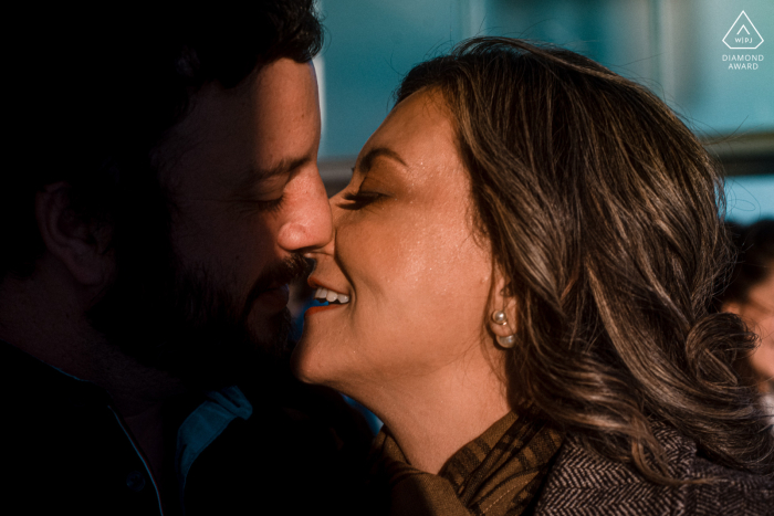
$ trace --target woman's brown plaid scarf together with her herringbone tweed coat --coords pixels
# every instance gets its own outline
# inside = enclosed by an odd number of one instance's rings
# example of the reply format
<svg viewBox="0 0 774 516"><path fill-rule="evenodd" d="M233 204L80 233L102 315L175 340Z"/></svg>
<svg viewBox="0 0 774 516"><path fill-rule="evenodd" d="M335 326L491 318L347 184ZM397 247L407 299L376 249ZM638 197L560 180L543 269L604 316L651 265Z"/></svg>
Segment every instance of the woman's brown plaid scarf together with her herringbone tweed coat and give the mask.
<svg viewBox="0 0 774 516"><path fill-rule="evenodd" d="M655 484L630 465L587 451L572 433L557 451L546 440L556 442L545 422L526 418L512 423L513 419L495 422L456 452L437 475L408 464L391 434L383 431L372 457L370 488L383 509L378 514L774 515L772 478L702 459L692 441L665 424L657 423L655 435L665 447L672 477L713 482ZM544 460L546 456L550 459Z"/></svg>

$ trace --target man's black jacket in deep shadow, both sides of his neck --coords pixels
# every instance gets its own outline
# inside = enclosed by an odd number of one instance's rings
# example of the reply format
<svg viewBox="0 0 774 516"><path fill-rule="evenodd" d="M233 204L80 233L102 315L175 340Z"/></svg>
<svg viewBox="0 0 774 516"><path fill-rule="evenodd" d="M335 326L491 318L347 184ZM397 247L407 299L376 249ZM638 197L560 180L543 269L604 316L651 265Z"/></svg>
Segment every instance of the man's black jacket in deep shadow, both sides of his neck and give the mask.
<svg viewBox="0 0 774 516"><path fill-rule="evenodd" d="M143 454L107 392L2 341L0 388L3 514L160 514ZM215 436L211 442L185 442L185 432L171 429L177 463L186 464L179 492L186 516L347 512L353 474L370 435L356 428L356 417L346 421L346 406L331 392L292 382L276 388L265 399L251 399L248 412L239 400L207 401L226 415L223 429L203 429ZM287 399L287 389L303 394L302 410L272 401ZM190 423L190 414L205 406L182 403L179 420ZM328 420L310 414L315 411ZM209 424L206 418L199 422ZM172 474L181 478L181 472Z"/></svg>

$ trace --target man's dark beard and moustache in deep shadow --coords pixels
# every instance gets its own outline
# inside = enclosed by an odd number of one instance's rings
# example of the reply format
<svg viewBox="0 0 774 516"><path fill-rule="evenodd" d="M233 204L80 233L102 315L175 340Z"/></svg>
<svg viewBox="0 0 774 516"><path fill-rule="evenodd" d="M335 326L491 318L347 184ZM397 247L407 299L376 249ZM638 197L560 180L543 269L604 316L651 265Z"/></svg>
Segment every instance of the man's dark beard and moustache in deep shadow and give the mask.
<svg viewBox="0 0 774 516"><path fill-rule="evenodd" d="M202 265L184 266L170 248L145 266L118 254L115 281L88 312L94 328L128 357L169 372L190 389L270 381L287 361L290 313L280 310L262 319L261 328L251 328L251 307L270 285L307 272L307 263L295 254L276 262L240 299L223 277Z"/></svg>

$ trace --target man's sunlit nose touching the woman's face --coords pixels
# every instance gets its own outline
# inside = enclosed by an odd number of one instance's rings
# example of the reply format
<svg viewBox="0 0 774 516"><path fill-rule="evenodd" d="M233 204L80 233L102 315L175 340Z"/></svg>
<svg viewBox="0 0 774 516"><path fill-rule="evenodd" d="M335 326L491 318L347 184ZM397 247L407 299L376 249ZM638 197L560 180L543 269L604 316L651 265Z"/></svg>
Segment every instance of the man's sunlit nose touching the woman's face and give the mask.
<svg viewBox="0 0 774 516"><path fill-rule="evenodd" d="M278 243L289 252L302 253L325 245L333 238L333 223L317 167L300 173L294 179L293 190Z"/></svg>

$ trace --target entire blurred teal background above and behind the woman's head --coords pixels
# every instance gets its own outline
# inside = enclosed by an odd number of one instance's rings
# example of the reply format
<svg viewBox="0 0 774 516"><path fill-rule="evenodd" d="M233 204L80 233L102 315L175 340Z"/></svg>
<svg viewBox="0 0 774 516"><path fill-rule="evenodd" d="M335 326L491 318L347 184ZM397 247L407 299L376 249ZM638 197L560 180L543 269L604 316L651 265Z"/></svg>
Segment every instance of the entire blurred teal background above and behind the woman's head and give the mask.
<svg viewBox="0 0 774 516"><path fill-rule="evenodd" d="M347 183L357 152L412 65L466 38L506 35L565 46L648 86L723 162L728 218L751 223L774 217L774 0L317 4L326 28L325 48L315 60L323 110L320 168L330 193ZM763 43L730 50L723 39L743 10ZM755 35L753 28L746 30ZM729 70L723 56L735 54L763 61L757 70Z"/></svg>

